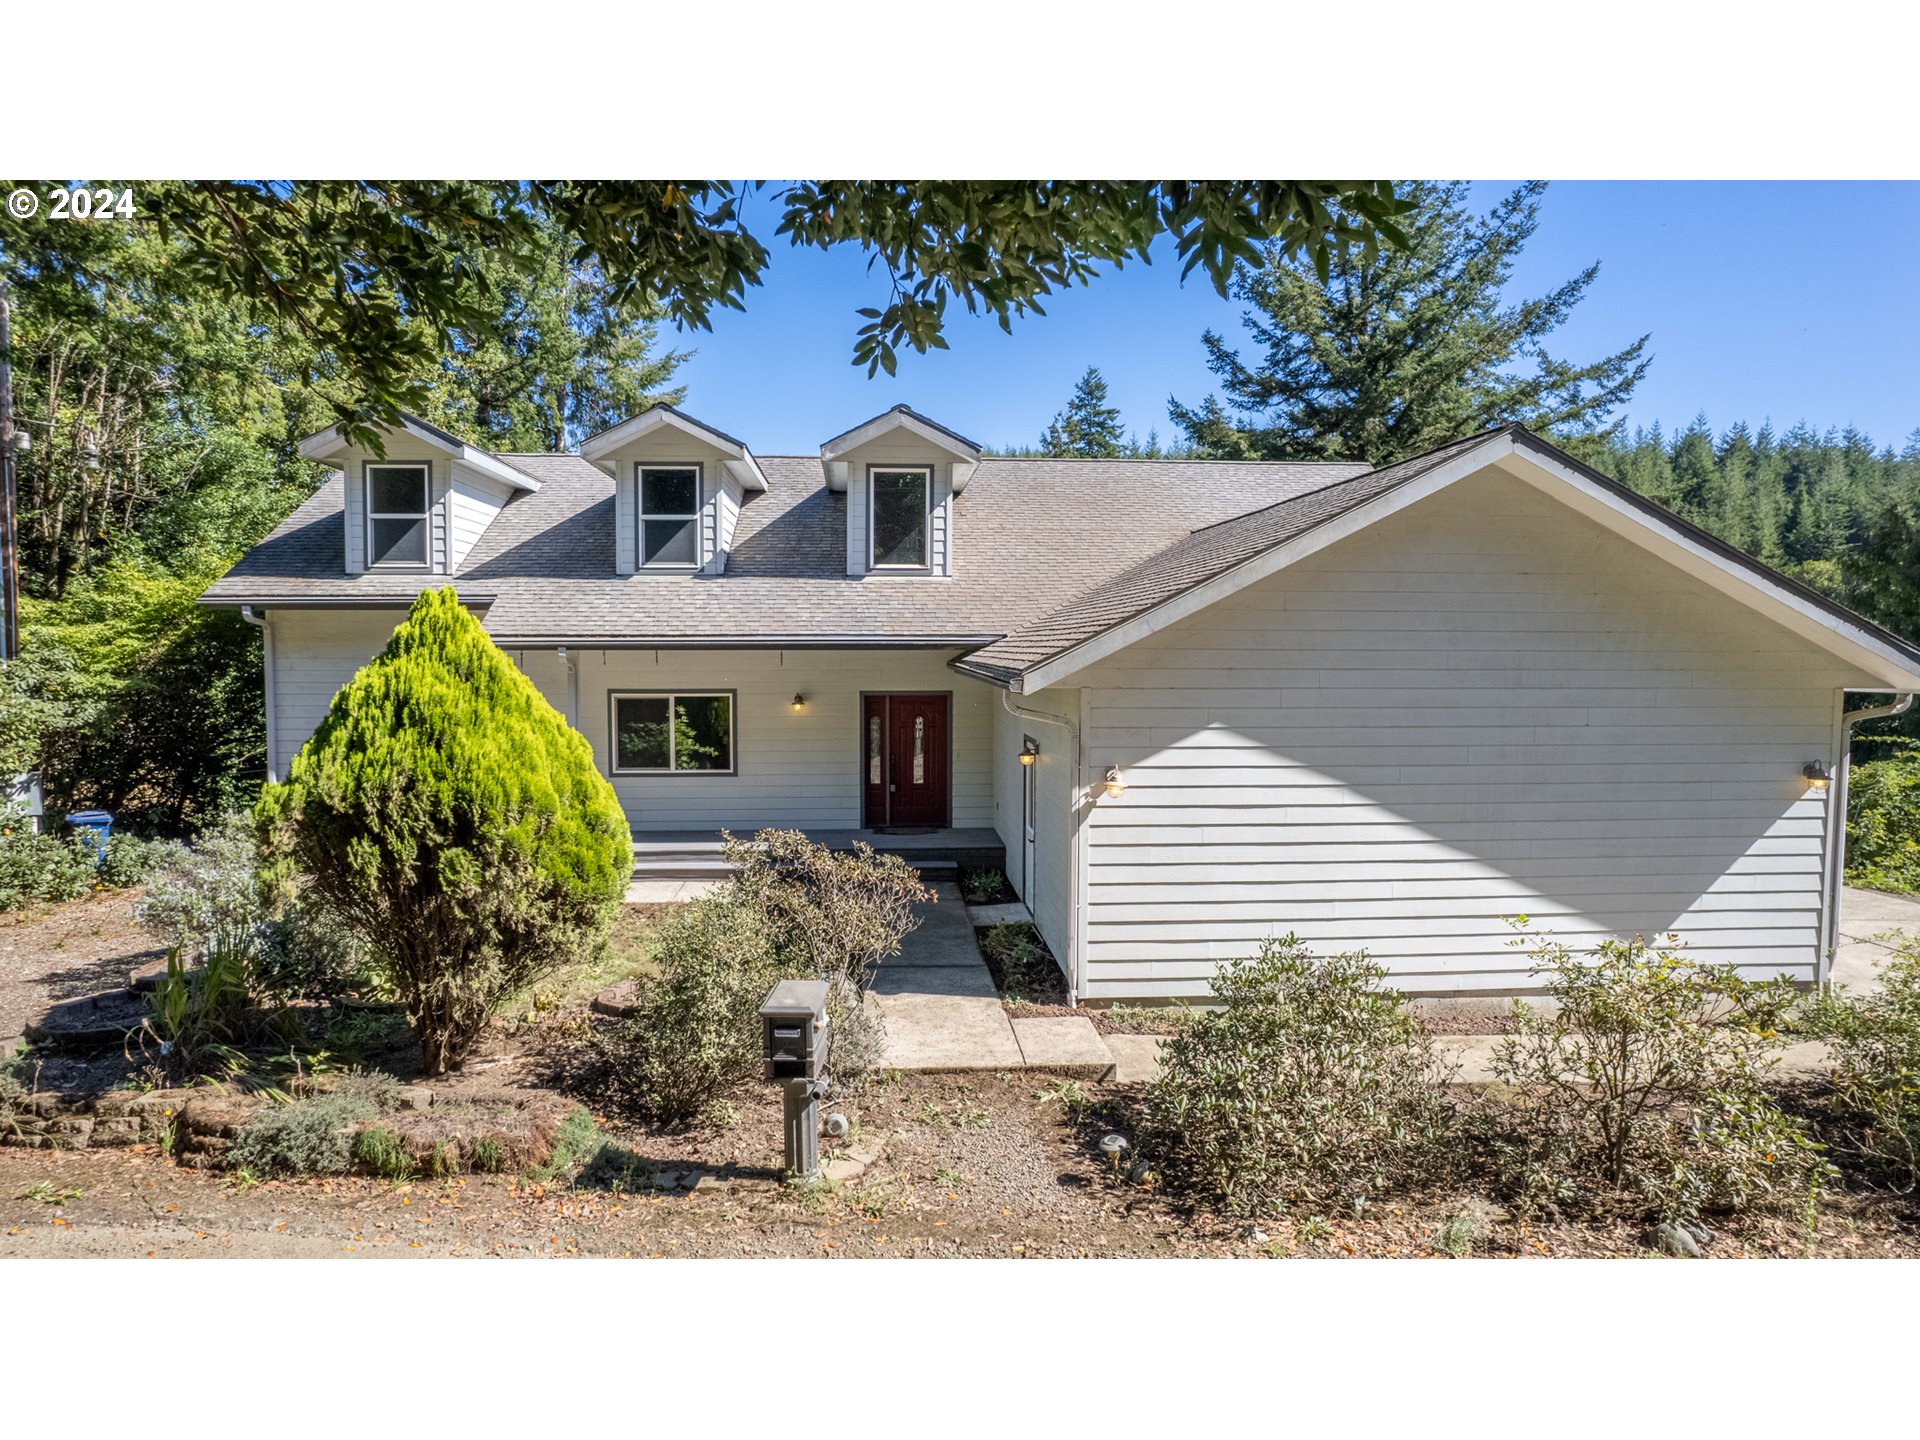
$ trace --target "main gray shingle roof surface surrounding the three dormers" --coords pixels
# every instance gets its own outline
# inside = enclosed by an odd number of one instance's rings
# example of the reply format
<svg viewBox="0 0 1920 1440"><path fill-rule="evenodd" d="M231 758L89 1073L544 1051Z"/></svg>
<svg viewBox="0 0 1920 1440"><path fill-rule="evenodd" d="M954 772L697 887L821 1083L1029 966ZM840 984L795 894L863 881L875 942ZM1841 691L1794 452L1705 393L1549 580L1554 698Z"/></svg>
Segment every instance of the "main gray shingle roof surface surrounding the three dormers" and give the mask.
<svg viewBox="0 0 1920 1440"><path fill-rule="evenodd" d="M1365 465L983 459L954 497L950 578L847 570L847 497L818 455L762 457L724 576L614 574L612 480L578 455L501 455L540 480L507 501L451 584L532 641L972 641L1052 614L1188 532L1309 495ZM217 580L207 605L411 601L445 576L346 574L342 482L321 486Z"/></svg>

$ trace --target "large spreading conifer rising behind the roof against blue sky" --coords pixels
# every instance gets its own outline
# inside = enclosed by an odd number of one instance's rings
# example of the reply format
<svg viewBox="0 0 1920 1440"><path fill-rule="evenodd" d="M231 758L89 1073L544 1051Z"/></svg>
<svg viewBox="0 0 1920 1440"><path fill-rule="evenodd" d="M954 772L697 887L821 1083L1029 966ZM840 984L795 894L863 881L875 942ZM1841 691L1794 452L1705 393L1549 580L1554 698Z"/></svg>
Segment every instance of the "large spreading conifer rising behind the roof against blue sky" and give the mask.
<svg viewBox="0 0 1920 1440"><path fill-rule="evenodd" d="M1242 263L1256 359L1208 330L1225 403L1169 403L1175 424L1225 459L1386 465L1511 420L1544 434L1601 430L1645 374L1647 336L1596 361L1546 349L1599 265L1509 301L1513 261L1540 225L1546 186L1523 184L1490 215L1463 182L1405 186L1405 246L1332 252L1325 267L1283 246Z"/></svg>

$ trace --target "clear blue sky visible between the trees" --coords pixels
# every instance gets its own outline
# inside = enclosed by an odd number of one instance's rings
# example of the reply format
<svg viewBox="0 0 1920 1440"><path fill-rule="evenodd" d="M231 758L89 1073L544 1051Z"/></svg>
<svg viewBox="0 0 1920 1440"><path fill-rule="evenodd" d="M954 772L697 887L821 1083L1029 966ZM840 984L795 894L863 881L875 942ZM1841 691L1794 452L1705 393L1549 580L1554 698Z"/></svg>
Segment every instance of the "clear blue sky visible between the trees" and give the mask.
<svg viewBox="0 0 1920 1440"><path fill-rule="evenodd" d="M1475 188L1486 207L1501 192ZM1185 286L1167 259L1129 265L1056 296L1046 317L1014 323L950 313L948 351L900 355L895 378L851 365L854 309L879 305L885 275L854 253L772 250L745 313L712 332L662 340L695 349L682 369L687 409L762 455L812 453L889 405L910 403L993 445L1031 444L1087 365L1098 365L1123 420L1171 440L1167 396L1212 390L1200 332L1240 336L1240 307L1204 278ZM1515 294L1538 294L1586 263L1599 280L1557 349L1592 359L1651 332L1653 369L1630 424L1686 424L1705 411L1778 428L1853 424L1878 444L1920 426L1920 184L1574 182L1555 184L1515 267Z"/></svg>

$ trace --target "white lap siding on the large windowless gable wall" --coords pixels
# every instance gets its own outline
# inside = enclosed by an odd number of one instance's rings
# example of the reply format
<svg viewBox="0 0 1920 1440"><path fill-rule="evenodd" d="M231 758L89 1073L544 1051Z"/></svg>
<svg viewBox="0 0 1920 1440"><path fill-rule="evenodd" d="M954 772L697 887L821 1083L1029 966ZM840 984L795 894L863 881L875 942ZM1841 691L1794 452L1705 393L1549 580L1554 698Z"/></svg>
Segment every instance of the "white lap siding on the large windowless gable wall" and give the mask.
<svg viewBox="0 0 1920 1440"><path fill-rule="evenodd" d="M1091 998L1298 931L1523 991L1509 918L1812 979L1839 689L1870 684L1540 492L1465 480L1100 660Z"/></svg>

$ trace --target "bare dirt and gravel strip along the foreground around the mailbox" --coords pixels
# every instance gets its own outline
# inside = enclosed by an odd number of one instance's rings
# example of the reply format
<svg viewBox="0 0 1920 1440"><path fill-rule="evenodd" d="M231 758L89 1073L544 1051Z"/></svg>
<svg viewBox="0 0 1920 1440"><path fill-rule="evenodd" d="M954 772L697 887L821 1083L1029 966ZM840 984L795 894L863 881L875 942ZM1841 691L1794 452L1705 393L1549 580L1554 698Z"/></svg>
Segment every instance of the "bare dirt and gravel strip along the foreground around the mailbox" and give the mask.
<svg viewBox="0 0 1920 1440"><path fill-rule="evenodd" d="M812 1188L780 1179L774 1087L743 1089L732 1123L685 1133L609 1119L605 1164L574 1183L242 1185L154 1148L0 1150L0 1256L1419 1258L1438 1254L1436 1233L1473 1200L1231 1221L1110 1175L1094 1148L1100 1106L1125 1091L1085 1087L1071 1112L1043 1091L1020 1075L874 1081L828 1106L854 1133L824 1150L858 1144L877 1158L845 1185ZM653 1188L660 1181L670 1188ZM1638 1225L1526 1225L1488 1210L1482 1256L1647 1254ZM1920 1256L1920 1231L1899 1202L1839 1194L1811 1244L1797 1221L1747 1219L1720 1229L1707 1254Z"/></svg>

